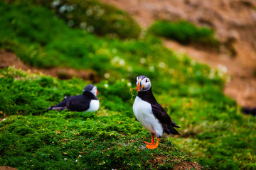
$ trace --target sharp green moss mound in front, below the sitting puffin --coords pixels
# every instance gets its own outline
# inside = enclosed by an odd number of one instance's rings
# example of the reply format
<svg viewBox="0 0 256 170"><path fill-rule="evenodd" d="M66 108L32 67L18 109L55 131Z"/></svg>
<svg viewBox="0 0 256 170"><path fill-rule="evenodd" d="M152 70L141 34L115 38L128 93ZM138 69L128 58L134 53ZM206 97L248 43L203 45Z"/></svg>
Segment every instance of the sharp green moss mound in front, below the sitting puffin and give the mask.
<svg viewBox="0 0 256 170"><path fill-rule="evenodd" d="M63 113L10 116L2 121L1 164L18 169L65 169L66 166L69 169L82 166L88 169L155 169L149 160L154 160L156 155L173 157L175 153L178 159L184 157L168 141L161 142L163 150L146 149L143 140L149 140L150 137L144 139L148 133L137 121L122 113L101 110L97 116L86 119L66 118L67 113ZM114 124L119 126L114 128ZM122 130L121 125L127 128ZM132 130L138 127L139 130Z"/></svg>

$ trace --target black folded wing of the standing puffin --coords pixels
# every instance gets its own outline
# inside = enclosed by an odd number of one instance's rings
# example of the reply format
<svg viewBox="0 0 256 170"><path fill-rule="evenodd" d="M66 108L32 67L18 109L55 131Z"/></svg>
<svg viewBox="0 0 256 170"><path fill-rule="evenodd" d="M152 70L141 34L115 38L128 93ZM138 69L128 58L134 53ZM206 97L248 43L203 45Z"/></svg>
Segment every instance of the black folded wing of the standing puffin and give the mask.
<svg viewBox="0 0 256 170"><path fill-rule="evenodd" d="M154 116L159 120L164 128L164 132L167 134L180 135L175 128L181 128L176 125L176 123L171 120L170 116L166 113L164 108L157 102L151 103L151 108ZM175 127L175 128L174 128Z"/></svg>

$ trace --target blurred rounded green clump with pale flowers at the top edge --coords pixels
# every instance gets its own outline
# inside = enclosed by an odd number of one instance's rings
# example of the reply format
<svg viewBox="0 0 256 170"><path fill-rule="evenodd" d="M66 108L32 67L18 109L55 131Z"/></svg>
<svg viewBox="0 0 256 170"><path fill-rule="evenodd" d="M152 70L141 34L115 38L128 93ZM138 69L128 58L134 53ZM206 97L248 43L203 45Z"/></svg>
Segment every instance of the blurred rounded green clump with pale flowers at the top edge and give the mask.
<svg viewBox="0 0 256 170"><path fill-rule="evenodd" d="M21 3L19 0L11 2ZM27 1L53 9L72 28L82 28L110 38L139 38L141 28L128 13L97 0ZM29 6L29 5L28 5Z"/></svg>

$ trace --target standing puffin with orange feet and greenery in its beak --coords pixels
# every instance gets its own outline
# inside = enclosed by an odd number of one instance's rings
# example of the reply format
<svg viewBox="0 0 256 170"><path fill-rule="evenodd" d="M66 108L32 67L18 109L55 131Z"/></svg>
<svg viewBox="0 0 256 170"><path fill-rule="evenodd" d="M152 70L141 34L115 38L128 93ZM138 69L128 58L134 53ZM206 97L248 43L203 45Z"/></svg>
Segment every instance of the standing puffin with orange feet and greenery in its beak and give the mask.
<svg viewBox="0 0 256 170"><path fill-rule="evenodd" d="M156 101L151 89L150 79L144 75L137 77L138 94L133 104L133 112L139 123L151 134L151 143L145 142L146 148L154 149L158 147L161 137L169 135L180 135L175 128L181 128L170 116L164 108ZM157 142L154 142L156 135Z"/></svg>

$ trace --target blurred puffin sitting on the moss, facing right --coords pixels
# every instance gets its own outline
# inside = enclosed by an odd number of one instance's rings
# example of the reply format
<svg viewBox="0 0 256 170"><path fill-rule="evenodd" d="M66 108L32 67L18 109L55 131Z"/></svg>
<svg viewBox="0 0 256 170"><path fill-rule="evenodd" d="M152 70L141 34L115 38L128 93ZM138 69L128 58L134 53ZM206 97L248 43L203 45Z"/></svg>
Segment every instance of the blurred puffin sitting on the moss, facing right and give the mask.
<svg viewBox="0 0 256 170"><path fill-rule="evenodd" d="M82 95L70 96L64 98L63 101L58 103L58 105L50 106L46 110L57 110L63 111L68 109L68 111L97 111L100 108L100 102L97 99L97 87L88 84L82 92Z"/></svg>

